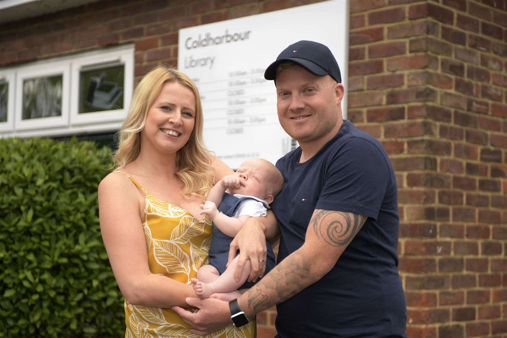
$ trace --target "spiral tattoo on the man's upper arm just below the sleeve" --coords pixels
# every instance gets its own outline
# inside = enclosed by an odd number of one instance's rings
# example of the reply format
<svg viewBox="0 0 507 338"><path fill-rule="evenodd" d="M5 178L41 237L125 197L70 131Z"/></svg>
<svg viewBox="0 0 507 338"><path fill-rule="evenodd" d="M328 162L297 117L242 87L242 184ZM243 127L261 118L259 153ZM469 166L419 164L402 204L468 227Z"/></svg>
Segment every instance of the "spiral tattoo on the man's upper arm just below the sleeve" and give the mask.
<svg viewBox="0 0 507 338"><path fill-rule="evenodd" d="M347 245L366 219L363 215L317 209L310 224L318 238L338 247Z"/></svg>

